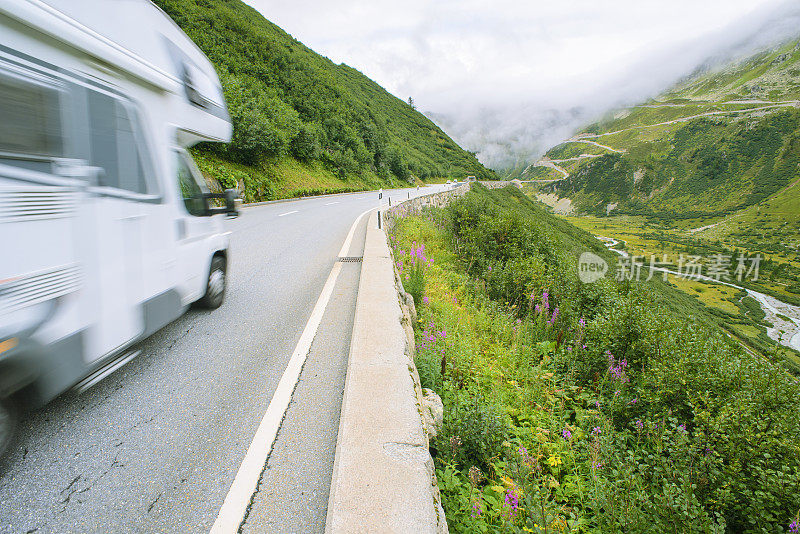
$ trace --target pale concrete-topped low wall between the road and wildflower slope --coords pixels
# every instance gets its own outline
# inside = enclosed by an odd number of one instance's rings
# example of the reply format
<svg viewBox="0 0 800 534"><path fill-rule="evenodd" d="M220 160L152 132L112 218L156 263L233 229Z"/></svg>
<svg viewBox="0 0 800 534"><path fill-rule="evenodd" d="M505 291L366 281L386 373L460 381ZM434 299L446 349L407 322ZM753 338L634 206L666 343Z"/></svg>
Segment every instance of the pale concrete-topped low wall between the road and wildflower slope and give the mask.
<svg viewBox="0 0 800 534"><path fill-rule="evenodd" d="M377 223L373 213L367 223L326 532L447 532L421 417L423 394L410 359L413 330L398 298L386 235Z"/></svg>

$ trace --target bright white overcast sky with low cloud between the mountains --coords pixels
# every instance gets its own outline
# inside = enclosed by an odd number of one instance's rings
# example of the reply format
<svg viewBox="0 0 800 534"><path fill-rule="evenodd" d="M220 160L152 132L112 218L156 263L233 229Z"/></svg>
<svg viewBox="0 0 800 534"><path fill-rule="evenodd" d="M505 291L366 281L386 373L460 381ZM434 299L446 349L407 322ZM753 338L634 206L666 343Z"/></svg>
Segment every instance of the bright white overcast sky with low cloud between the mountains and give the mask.
<svg viewBox="0 0 800 534"><path fill-rule="evenodd" d="M706 57L797 30L797 0L245 0L295 38L413 97L490 165L530 158ZM751 43L752 44L752 43ZM544 131L549 129L549 131ZM513 145L513 146L512 146Z"/></svg>

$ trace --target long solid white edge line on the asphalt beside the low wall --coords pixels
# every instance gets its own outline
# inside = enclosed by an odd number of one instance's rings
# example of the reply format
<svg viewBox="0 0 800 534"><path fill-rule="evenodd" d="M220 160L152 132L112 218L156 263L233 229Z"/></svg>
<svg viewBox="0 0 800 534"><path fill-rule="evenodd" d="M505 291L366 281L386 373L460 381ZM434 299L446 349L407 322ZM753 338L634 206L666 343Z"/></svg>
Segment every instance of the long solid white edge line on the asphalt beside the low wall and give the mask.
<svg viewBox="0 0 800 534"><path fill-rule="evenodd" d="M339 256L347 254L358 223L364 218L364 215L371 211L373 210L365 211L353 222L350 232L342 244L342 249L339 251ZM214 522L214 526L211 527L212 534L235 534L239 531L239 527L247 513L247 507L250 505L253 494L258 489L261 473L264 471L270 452L272 452L275 437L278 435L283 416L289 407L289 402L292 400L292 393L294 393L294 388L300 379L300 373L303 370L306 357L311 350L311 343L314 341L317 328L322 322L322 316L328 306L328 301L331 298L336 279L339 277L341 270L342 264L337 261L325 281L322 293L320 293L317 303L314 305L314 310L311 312L311 317L308 319L300 336L300 341L297 342L292 357L289 359L286 371L283 372L283 376L278 382L278 387L272 395L267 412L258 425L256 435L247 449L242 465L239 466L239 471L236 473L236 478L228 490L228 495L225 496L225 501L222 503L217 520Z"/></svg>

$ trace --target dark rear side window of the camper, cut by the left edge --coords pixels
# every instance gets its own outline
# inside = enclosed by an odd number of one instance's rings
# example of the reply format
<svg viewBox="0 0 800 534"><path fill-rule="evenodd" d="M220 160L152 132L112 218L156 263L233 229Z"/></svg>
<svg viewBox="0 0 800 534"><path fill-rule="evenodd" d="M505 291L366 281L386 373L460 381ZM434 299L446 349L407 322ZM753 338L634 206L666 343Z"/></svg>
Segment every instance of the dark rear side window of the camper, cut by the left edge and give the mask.
<svg viewBox="0 0 800 534"><path fill-rule="evenodd" d="M0 75L0 152L63 155L56 89Z"/></svg>

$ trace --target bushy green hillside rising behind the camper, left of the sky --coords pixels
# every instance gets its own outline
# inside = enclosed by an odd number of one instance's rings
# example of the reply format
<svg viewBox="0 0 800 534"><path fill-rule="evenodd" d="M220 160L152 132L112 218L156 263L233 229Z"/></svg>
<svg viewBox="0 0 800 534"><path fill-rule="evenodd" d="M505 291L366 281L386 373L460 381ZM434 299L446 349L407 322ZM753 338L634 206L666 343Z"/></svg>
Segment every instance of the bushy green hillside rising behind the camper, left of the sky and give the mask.
<svg viewBox="0 0 800 534"><path fill-rule="evenodd" d="M214 63L233 120L233 141L199 147L198 163L247 200L495 178L411 105L240 0L155 3Z"/></svg>

